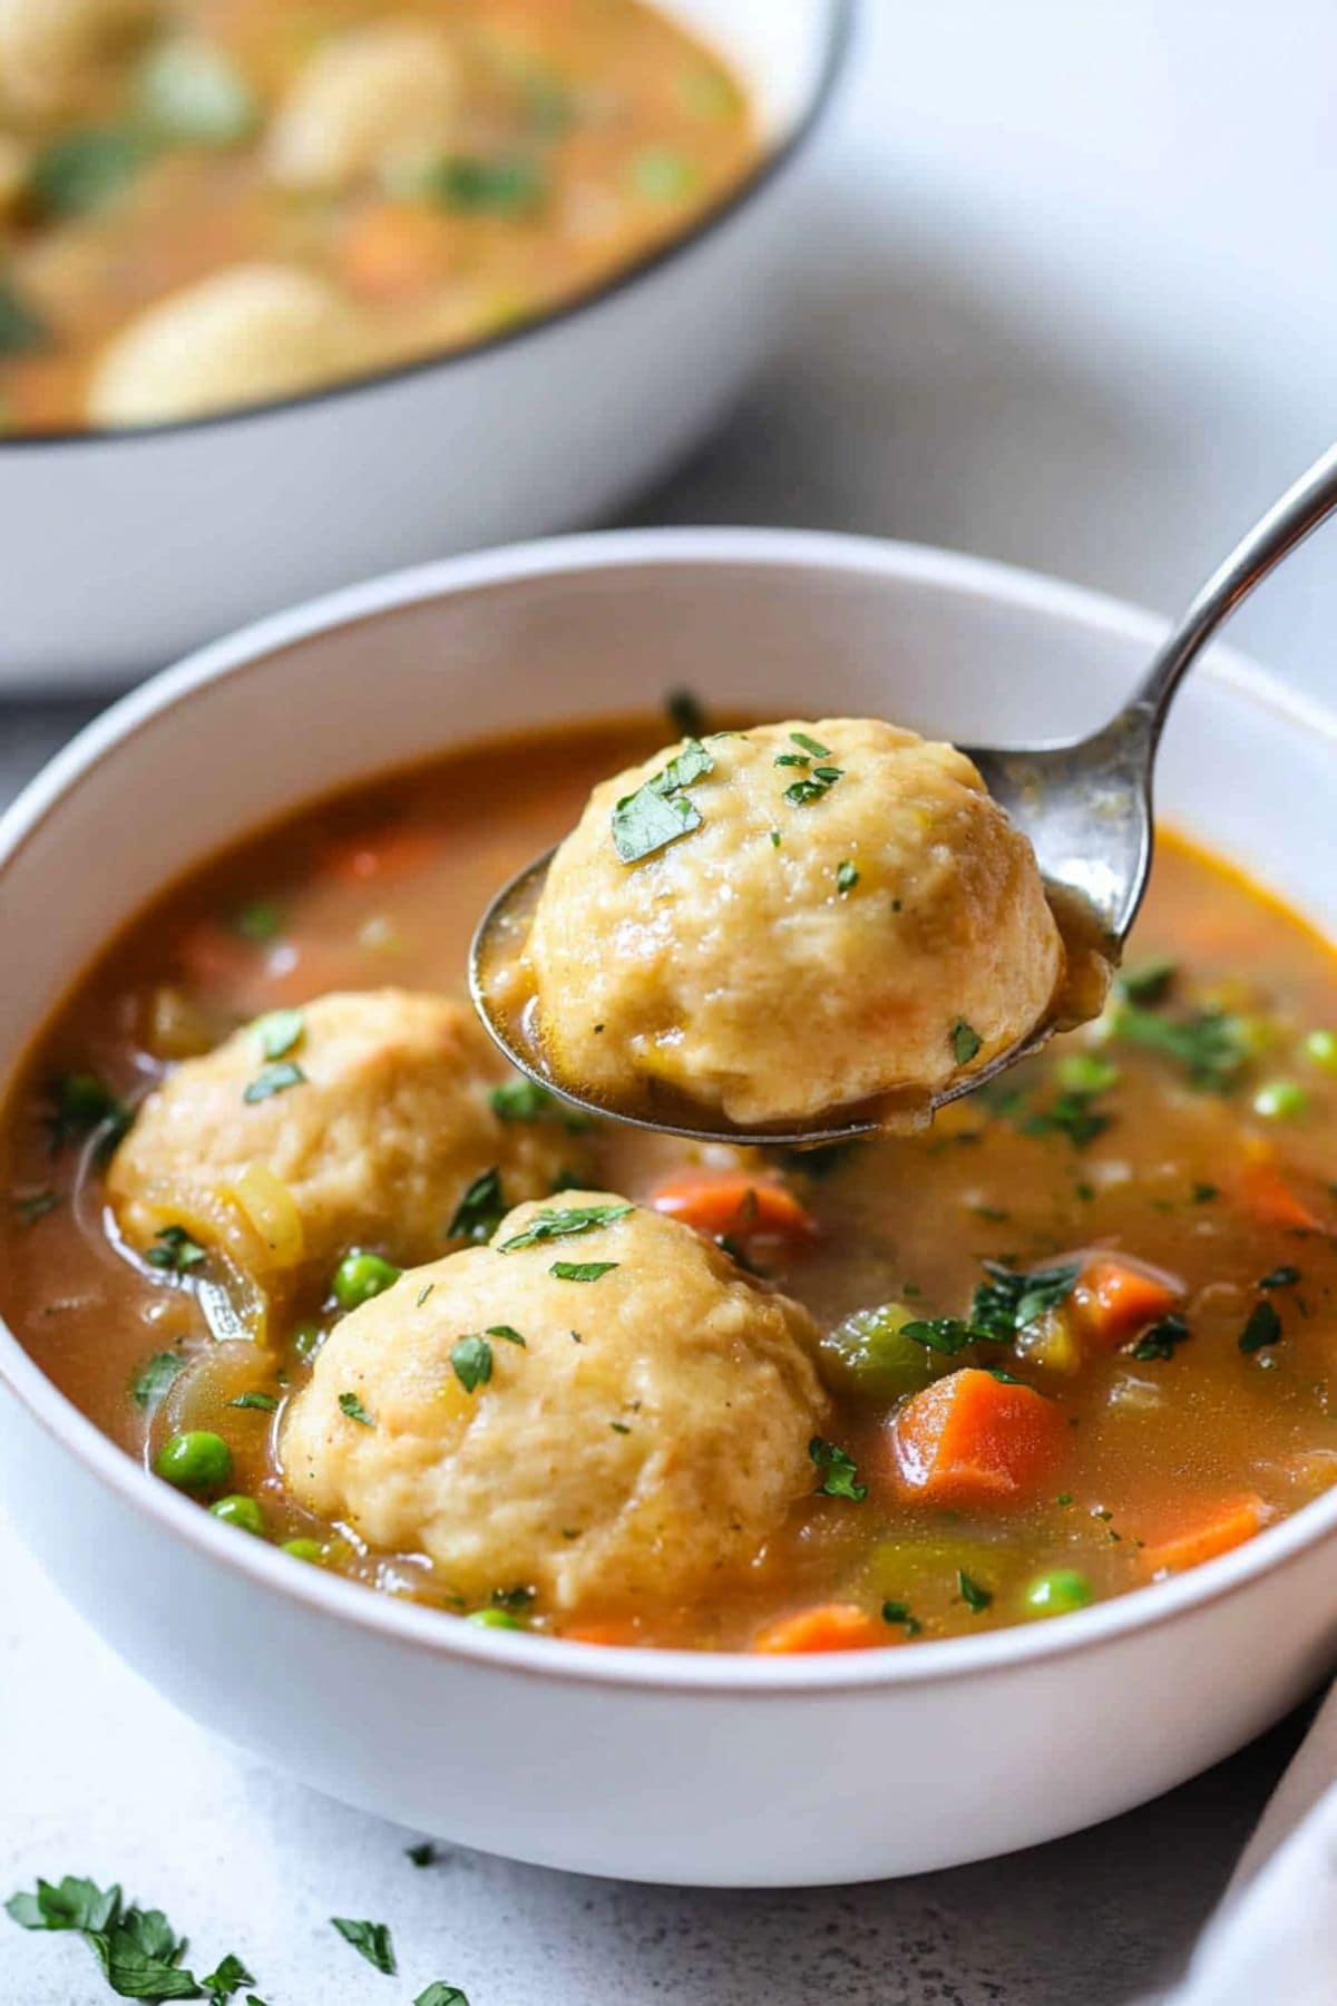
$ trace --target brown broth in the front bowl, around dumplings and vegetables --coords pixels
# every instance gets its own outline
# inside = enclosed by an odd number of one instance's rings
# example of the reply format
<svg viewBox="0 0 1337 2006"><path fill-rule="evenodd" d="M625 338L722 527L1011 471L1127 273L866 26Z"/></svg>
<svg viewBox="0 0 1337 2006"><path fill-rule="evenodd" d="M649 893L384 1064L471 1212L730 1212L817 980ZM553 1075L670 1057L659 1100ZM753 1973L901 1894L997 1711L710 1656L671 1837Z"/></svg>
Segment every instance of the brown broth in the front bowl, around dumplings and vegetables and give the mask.
<svg viewBox="0 0 1337 2006"><path fill-rule="evenodd" d="M78 1151L50 1153L46 1081L92 1069L136 1097L162 1069L148 1049L154 1021L158 1039L164 1025L174 1037L202 1013L192 1035L206 1041L335 987L459 993L491 891L575 820L597 778L645 758L661 736L657 720L643 720L467 746L245 843L156 901L80 979L4 1111L0 1296L42 1370L134 1456L182 1424L188 1388L188 1422L229 1436L239 1488L265 1500L273 1535L319 1537L327 1565L391 1593L453 1607L421 1555L369 1553L349 1529L287 1504L275 1418L227 1406L257 1382L277 1400L303 1382L289 1340L319 1306L295 1304L277 1334L281 1376L257 1374L251 1346L212 1344L190 1288L118 1256L96 1174L76 1174ZM267 921L273 939L245 937ZM812 1496L742 1587L692 1607L591 1607L581 1629L744 1647L758 1625L808 1603L876 1613L890 1599L912 1609L924 1637L974 1633L1026 1617L1026 1585L1044 1571L1076 1569L1096 1599L1117 1595L1153 1575L1167 1531L1223 1498L1247 1494L1263 1523L1337 1480L1337 1073L1301 1043L1315 1027L1337 1027L1337 963L1281 905L1165 832L1131 961L1151 955L1179 965L1173 997L1155 1005L1159 1021L1195 1007L1241 1017L1255 1055L1231 1091L1201 1091L1159 1049L1076 1033L988 1101L944 1111L928 1135L878 1139L830 1161L780 1159L818 1240L798 1254L754 1240L748 1252L828 1330L886 1300L962 1316L984 1260L1030 1270L1112 1248L1183 1280L1189 1338L1171 1358L1137 1360L1123 1348L1072 1374L1034 1356L986 1354L1048 1394L1066 1424L1054 1482L1006 1511L906 1502L890 1480L886 1404L842 1400L830 1436L868 1484L864 1502ZM1052 1121L1072 1091L1074 1053L1119 1067L1112 1087L1078 1095L1086 1113L1108 1115L1084 1141ZM1273 1077L1303 1087L1303 1113L1267 1119L1253 1109ZM635 1200L696 1155L629 1129L605 1131L595 1149L601 1182ZM1311 1226L1259 1218L1249 1165L1261 1161L1279 1167ZM1279 1268L1299 1280L1261 1290ZM1239 1338L1261 1300L1275 1306L1281 1338L1245 1352ZM150 1426L126 1388L146 1356L176 1344L208 1360L212 1386L182 1374ZM962 1571L992 1597L986 1607L962 1597ZM535 1627L549 1621L535 1611ZM886 1641L902 1635L904 1625L886 1625Z"/></svg>

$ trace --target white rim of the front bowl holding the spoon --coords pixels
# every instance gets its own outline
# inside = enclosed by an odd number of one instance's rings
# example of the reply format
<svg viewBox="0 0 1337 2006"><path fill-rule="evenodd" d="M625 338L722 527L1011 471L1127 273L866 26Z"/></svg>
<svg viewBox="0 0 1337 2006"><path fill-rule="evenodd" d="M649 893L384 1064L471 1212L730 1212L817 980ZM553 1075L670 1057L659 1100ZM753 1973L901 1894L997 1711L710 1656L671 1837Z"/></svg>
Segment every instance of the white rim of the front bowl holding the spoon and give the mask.
<svg viewBox="0 0 1337 2006"><path fill-rule="evenodd" d="M435 560L407 572L325 594L289 612L271 614L220 642L196 650L120 698L86 724L0 816L0 885L28 841L62 798L96 766L114 756L162 710L188 702L225 676L263 674L295 642L377 620L403 606L479 588L537 578L579 576L645 566L736 566L806 570L840 578L892 578L962 600L1038 612L1054 626L1080 626L1151 652L1167 622L1106 594L1070 586L1016 566L924 544L846 536L822 530L672 528L609 530L549 538L501 550ZM1315 734L1337 752L1337 712L1281 684L1233 650L1215 648L1197 670L1223 690L1271 710L1293 728ZM1149 1583L1108 1603L1076 1611L1062 1623L1016 1623L980 1637L918 1643L912 1651L888 1641L882 1649L812 1657L762 1657L742 1651L661 1651L643 1645L587 1645L561 1637L527 1637L443 1621L441 1611L397 1601L361 1583L293 1561L261 1541L239 1541L188 1498L148 1472L102 1434L38 1368L0 1318L0 1390L8 1390L46 1434L96 1480L168 1535L257 1589L285 1595L315 1617L351 1623L391 1647L423 1651L441 1661L475 1661L535 1679L573 1685L708 1693L756 1699L870 1693L936 1685L942 1679L1048 1663L1121 1637L1183 1621L1205 1605L1235 1595L1263 1573L1281 1573L1337 1529L1337 1490L1303 1504L1279 1525L1185 1575Z"/></svg>

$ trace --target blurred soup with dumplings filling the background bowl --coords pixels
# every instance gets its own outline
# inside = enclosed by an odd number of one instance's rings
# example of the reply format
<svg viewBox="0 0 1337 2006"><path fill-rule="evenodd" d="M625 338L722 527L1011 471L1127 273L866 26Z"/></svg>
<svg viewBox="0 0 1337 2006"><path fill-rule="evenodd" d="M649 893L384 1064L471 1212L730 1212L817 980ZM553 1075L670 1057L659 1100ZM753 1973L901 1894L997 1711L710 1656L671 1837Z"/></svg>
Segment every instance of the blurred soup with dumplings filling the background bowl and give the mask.
<svg viewBox="0 0 1337 2006"><path fill-rule="evenodd" d="M754 158L740 80L641 0L12 0L2 423L192 417L459 347Z"/></svg>

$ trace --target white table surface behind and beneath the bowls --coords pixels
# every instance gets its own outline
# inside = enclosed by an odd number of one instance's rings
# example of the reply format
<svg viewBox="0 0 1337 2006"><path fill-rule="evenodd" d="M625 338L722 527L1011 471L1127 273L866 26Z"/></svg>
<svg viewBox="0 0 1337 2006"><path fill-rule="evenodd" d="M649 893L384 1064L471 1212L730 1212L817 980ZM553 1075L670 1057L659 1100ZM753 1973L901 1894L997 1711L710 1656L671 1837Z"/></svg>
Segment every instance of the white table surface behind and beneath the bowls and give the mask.
<svg viewBox="0 0 1337 2006"><path fill-rule="evenodd" d="M894 534L1173 608L1333 433L1335 68L1331 0L868 0L792 333L635 520ZM1333 614L1329 538L1237 638L1323 692ZM0 800L84 714L0 706ZM389 2006L429 1978L471 2006L1127 2006L1177 1968L1297 1733L1080 1837L900 1884L694 1896L461 1852L417 1872L411 1833L160 1703L4 1527L0 1583L0 1896L120 1880L200 1956L241 1952L269 2006ZM403 1978L331 1914L389 1922ZM4 2006L104 1996L80 1944L0 1918Z"/></svg>

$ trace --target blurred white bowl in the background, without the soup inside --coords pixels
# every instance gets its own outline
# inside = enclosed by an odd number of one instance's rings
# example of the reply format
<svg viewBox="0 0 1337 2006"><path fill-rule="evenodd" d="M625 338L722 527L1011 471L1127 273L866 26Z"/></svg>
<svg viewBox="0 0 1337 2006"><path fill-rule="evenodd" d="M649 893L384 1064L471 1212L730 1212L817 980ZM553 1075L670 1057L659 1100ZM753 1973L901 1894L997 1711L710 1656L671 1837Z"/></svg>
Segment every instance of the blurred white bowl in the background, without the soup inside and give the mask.
<svg viewBox="0 0 1337 2006"><path fill-rule="evenodd" d="M854 0L665 0L734 58L734 197L507 335L267 407L0 439L0 692L130 680L313 592L617 508L720 417L780 323L794 166Z"/></svg>

